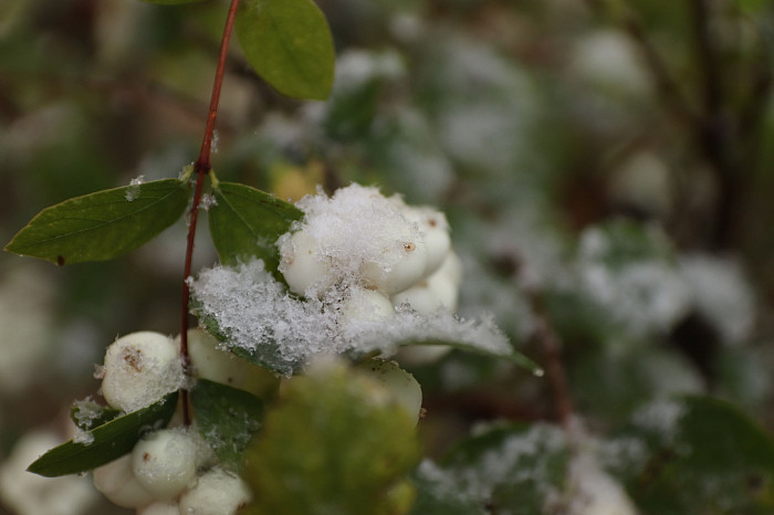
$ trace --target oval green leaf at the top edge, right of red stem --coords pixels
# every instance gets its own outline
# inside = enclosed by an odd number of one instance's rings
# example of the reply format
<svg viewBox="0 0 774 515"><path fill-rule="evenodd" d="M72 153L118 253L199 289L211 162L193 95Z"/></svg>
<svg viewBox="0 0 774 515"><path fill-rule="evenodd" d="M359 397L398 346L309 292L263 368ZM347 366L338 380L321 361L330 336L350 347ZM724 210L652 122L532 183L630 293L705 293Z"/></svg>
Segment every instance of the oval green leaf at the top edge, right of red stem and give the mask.
<svg viewBox="0 0 774 515"><path fill-rule="evenodd" d="M276 91L328 96L336 56L325 15L312 0L243 0L236 27L248 61Z"/></svg>

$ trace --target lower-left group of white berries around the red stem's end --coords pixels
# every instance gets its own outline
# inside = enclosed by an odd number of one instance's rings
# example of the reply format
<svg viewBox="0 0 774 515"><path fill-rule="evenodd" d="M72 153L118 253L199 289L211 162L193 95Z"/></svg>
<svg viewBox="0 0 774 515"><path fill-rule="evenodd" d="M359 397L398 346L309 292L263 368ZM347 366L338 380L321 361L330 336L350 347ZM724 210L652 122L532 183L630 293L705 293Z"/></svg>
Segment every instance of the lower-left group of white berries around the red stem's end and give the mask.
<svg viewBox="0 0 774 515"><path fill-rule="evenodd" d="M188 333L195 375L259 393L266 372L217 347L198 329ZM125 412L150 406L186 383L179 343L159 333L140 332L116 339L105 354L102 392ZM217 463L196 428L147 433L132 452L94 471L94 485L114 504L138 515L228 515L251 498L247 484Z"/></svg>

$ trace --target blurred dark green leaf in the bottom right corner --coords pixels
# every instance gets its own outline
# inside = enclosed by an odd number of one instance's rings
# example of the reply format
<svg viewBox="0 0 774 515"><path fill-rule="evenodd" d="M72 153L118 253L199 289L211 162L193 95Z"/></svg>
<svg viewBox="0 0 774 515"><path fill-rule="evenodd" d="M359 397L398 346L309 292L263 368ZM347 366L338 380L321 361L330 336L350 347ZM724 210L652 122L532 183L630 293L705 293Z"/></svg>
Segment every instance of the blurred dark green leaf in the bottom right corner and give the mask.
<svg viewBox="0 0 774 515"><path fill-rule="evenodd" d="M656 401L610 449L609 467L642 514L774 513L774 440L726 401Z"/></svg>

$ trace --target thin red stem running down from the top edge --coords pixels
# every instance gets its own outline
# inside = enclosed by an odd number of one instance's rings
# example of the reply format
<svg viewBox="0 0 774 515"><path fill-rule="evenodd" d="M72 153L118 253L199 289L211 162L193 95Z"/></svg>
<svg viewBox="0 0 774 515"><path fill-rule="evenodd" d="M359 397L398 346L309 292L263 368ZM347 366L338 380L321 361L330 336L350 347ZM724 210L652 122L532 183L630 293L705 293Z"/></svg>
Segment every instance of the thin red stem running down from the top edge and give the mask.
<svg viewBox="0 0 774 515"><path fill-rule="evenodd" d="M226 28L223 29L223 39L220 42L220 54L218 56L218 69L215 73L215 83L212 84L212 97L210 98L210 112L207 117L207 126L205 127L205 138L201 141L201 150L199 158L194 164L194 172L196 174L196 187L194 190L194 201L191 203L190 220L188 223L188 240L186 243L186 264L182 272L182 303L180 313L180 354L188 368L190 358L188 356L188 304L190 301L190 286L188 277L191 275L191 260L194 258L194 240L196 238L196 225L199 218L199 203L201 201L201 189L207 175L211 167L210 155L212 150L212 138L215 134L215 120L218 117L218 103L220 102L220 86L223 83L223 74L226 71L226 57L229 52L229 41L233 30L233 22L237 18L237 9L239 0L231 0L229 14L226 19ZM180 401L182 403L182 419L186 425L190 425L191 416L188 408L188 390L180 390Z"/></svg>

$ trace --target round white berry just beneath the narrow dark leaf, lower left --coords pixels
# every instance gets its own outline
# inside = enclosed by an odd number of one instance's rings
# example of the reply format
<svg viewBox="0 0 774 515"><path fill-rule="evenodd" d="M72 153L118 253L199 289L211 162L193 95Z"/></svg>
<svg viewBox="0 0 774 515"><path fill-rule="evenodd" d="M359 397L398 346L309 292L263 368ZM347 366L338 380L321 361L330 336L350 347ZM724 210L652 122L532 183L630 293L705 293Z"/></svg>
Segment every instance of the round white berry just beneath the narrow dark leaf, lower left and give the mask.
<svg viewBox="0 0 774 515"><path fill-rule="evenodd" d="M145 435L132 450L132 470L140 485L158 500L179 494L196 475L197 442L185 429L163 429Z"/></svg>

